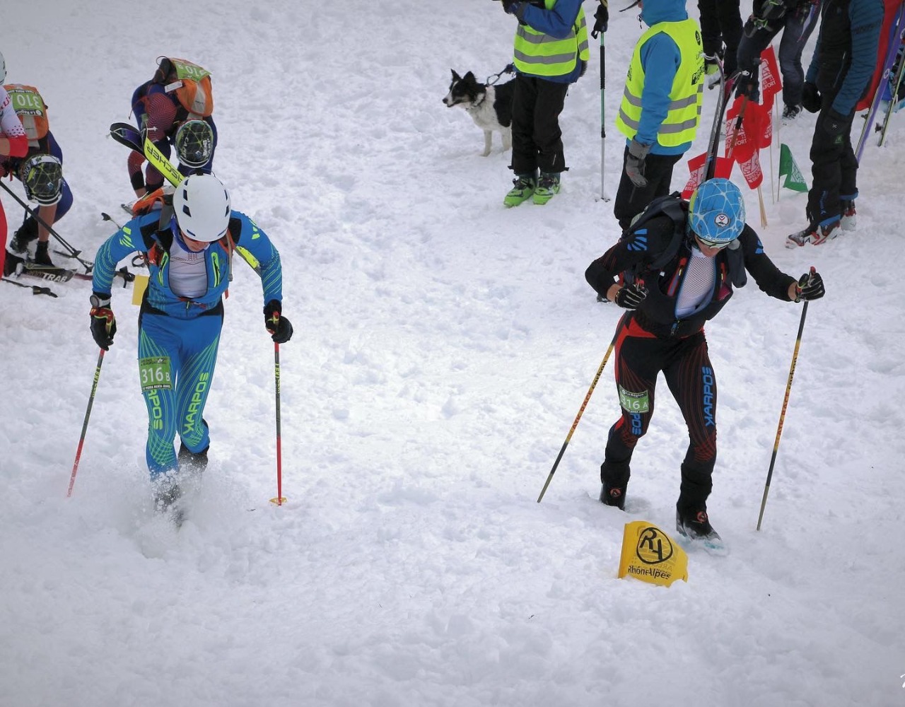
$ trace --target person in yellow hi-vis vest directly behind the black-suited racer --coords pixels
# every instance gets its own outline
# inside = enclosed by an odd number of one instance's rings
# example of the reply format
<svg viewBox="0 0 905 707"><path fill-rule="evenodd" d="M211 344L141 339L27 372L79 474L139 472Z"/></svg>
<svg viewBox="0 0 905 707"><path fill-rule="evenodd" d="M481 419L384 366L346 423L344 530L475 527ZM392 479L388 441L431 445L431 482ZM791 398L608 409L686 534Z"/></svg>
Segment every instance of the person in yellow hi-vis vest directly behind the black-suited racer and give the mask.
<svg viewBox="0 0 905 707"><path fill-rule="evenodd" d="M613 213L623 230L670 193L672 167L698 131L704 89L700 27L685 0L644 0L641 19L649 29L635 44L616 116L626 142Z"/></svg>

